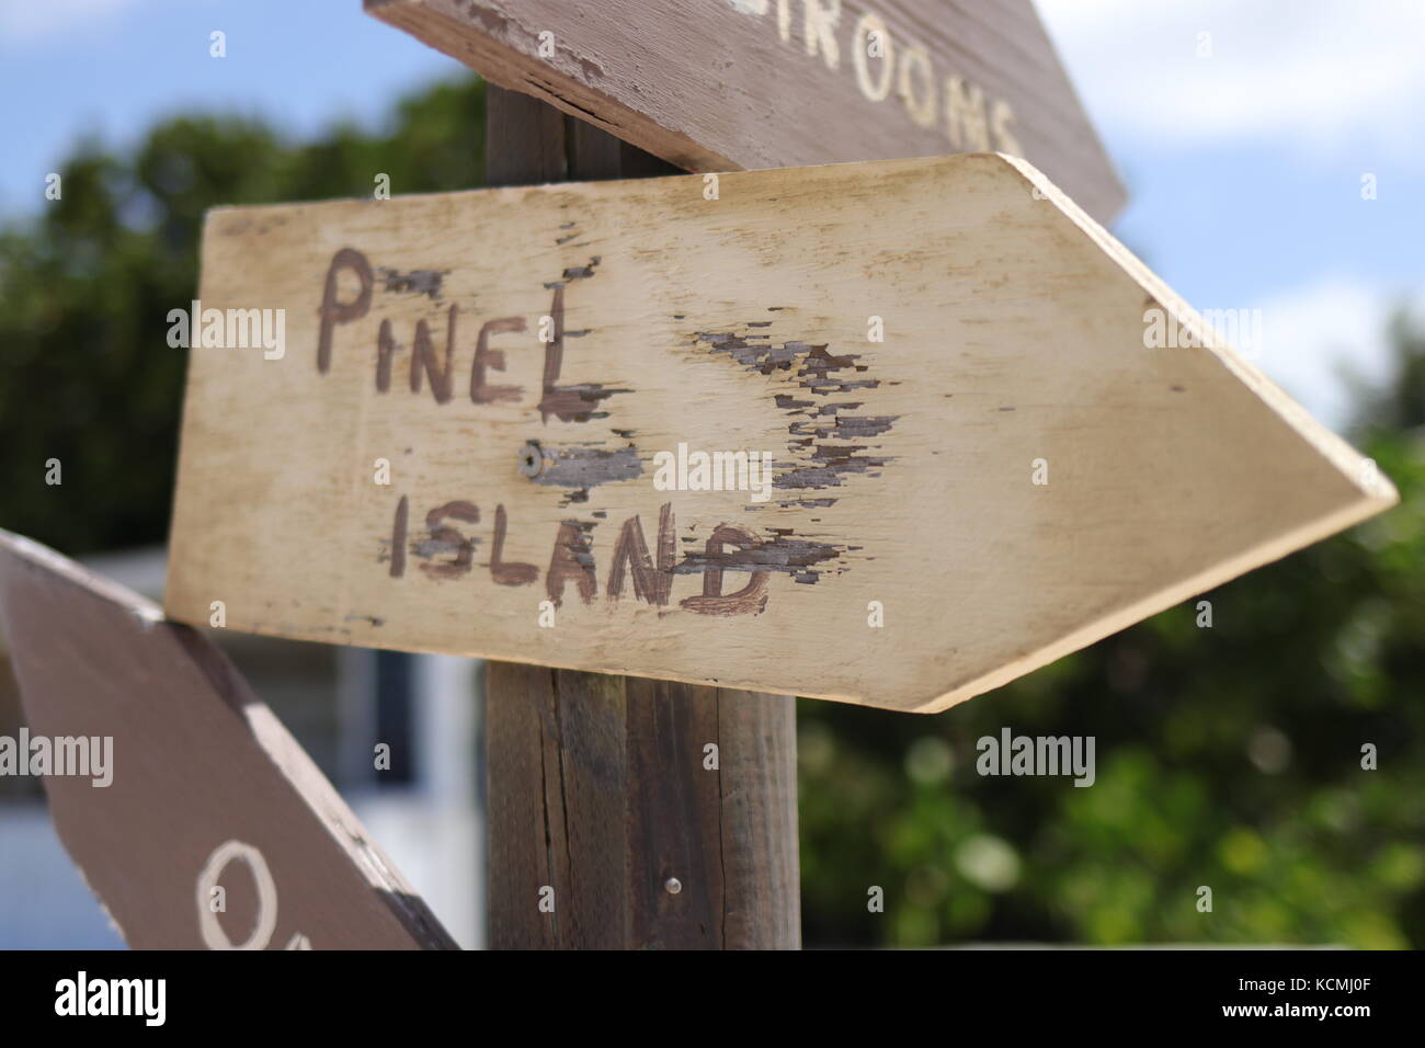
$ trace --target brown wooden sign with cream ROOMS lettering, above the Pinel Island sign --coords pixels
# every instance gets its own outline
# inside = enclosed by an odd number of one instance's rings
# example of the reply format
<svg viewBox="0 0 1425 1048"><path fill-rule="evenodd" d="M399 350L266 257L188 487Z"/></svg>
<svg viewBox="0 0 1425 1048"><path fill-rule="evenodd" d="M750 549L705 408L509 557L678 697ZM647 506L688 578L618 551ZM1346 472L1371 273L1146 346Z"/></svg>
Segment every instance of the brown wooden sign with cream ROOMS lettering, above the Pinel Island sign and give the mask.
<svg viewBox="0 0 1425 1048"><path fill-rule="evenodd" d="M1007 153L1109 221L1030 0L365 0L490 81L691 171Z"/></svg>

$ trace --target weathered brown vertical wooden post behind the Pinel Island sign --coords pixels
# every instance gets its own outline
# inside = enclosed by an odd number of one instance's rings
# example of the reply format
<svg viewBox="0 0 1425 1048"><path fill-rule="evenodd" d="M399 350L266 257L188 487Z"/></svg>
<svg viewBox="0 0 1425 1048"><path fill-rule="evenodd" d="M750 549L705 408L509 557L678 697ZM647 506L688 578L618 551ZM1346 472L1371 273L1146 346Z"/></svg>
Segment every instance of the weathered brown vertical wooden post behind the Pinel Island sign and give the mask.
<svg viewBox="0 0 1425 1048"><path fill-rule="evenodd" d="M490 185L674 171L529 96L486 100ZM801 945L791 697L513 663L486 696L492 947Z"/></svg>

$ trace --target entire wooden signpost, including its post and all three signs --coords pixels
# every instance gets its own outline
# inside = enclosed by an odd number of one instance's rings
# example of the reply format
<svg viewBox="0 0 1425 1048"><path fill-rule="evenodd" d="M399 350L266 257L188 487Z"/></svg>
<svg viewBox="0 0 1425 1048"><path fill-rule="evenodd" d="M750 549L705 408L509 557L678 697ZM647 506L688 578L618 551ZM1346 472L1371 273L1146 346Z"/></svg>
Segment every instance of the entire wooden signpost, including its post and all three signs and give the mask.
<svg viewBox="0 0 1425 1048"><path fill-rule="evenodd" d="M366 9L561 184L209 214L165 610L497 660L493 945L797 945L787 693L943 710L1395 500L1094 221L1027 0ZM50 784L131 942L449 945L195 633L13 538L0 612L144 754Z"/></svg>

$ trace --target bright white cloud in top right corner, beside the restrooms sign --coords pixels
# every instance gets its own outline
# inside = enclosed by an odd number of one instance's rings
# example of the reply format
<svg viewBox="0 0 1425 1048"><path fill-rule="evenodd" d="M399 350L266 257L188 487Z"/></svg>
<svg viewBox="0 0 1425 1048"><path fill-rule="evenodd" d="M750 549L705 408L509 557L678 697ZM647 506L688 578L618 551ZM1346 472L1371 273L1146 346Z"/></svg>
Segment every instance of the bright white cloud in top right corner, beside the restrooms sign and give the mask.
<svg viewBox="0 0 1425 1048"><path fill-rule="evenodd" d="M1039 0L1093 117L1168 147L1425 158L1421 0ZM1200 34L1211 57L1198 57Z"/></svg>

